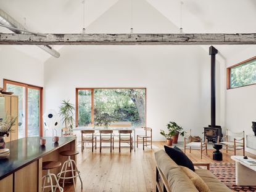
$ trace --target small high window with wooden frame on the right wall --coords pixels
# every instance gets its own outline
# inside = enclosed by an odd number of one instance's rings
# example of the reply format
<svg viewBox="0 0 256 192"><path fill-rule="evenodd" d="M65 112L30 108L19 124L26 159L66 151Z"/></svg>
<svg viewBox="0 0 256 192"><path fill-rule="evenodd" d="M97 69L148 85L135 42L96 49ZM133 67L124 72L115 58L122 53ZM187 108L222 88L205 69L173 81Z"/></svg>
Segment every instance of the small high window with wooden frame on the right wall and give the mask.
<svg viewBox="0 0 256 192"><path fill-rule="evenodd" d="M228 89L256 84L256 57L227 69Z"/></svg>

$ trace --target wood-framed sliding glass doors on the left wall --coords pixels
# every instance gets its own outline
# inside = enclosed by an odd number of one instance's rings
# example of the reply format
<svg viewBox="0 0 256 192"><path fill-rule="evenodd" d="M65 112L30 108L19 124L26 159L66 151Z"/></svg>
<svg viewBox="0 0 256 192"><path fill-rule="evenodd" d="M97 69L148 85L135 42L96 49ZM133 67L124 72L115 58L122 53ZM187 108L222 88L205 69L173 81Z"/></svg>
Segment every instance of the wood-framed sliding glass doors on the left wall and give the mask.
<svg viewBox="0 0 256 192"><path fill-rule="evenodd" d="M43 135L41 124L43 88L6 79L4 79L4 88L19 96L19 138Z"/></svg>

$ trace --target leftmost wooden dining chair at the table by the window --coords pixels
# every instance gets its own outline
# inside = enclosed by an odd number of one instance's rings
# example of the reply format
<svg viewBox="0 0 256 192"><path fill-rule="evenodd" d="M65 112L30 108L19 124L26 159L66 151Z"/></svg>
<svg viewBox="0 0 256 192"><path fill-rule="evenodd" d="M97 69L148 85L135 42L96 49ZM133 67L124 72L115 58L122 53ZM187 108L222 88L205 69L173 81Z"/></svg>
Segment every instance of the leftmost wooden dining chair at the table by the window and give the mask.
<svg viewBox="0 0 256 192"><path fill-rule="evenodd" d="M82 152L85 150L86 143L91 143L91 151L93 152L93 148L97 148L97 137L94 136L95 130L81 130L81 148ZM85 136L84 136L85 135ZM95 143L95 145L94 145Z"/></svg>

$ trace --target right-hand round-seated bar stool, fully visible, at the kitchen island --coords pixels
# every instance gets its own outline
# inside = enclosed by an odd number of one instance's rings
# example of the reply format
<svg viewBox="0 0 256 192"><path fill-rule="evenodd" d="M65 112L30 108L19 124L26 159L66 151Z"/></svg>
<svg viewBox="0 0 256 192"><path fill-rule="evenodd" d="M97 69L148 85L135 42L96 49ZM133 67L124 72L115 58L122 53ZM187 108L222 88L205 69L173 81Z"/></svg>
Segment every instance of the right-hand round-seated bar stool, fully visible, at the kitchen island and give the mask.
<svg viewBox="0 0 256 192"><path fill-rule="evenodd" d="M72 178L74 189L75 189L75 178L79 177L80 182L81 182L81 188L83 188L83 182L82 182L81 177L80 177L81 173L76 167L76 162L73 159L71 159L71 156L79 154L79 152L78 151L61 151L60 154L62 156L68 156L68 159L67 159L67 161L64 162L59 174L57 174L57 177L59 178L58 181L60 180L60 178L63 179L62 186L64 188L65 179L69 179L69 178L71 179ZM69 170L67 170L67 167L71 167L71 168ZM75 169L74 169L74 167L75 167ZM71 172L72 176L71 177L66 177L67 172ZM74 174L74 172L75 172L75 174ZM62 177L62 174L64 174L63 177Z"/></svg>

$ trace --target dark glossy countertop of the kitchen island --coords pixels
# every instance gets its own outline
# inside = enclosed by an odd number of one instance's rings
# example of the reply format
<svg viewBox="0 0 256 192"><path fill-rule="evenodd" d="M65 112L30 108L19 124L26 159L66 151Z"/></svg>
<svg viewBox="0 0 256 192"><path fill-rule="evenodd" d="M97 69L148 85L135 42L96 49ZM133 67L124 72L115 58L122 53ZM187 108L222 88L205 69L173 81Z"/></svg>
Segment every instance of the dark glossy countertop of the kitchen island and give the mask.
<svg viewBox="0 0 256 192"><path fill-rule="evenodd" d="M72 142L76 137L59 137L58 143L53 143L52 137L43 138L46 138L46 145L44 146L39 145L40 137L20 138L7 142L6 148L10 149L10 156L7 159L0 159L0 180L61 146Z"/></svg>

